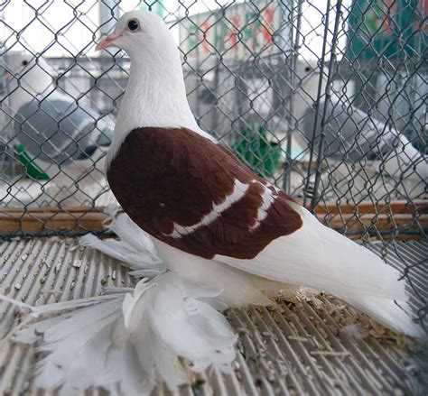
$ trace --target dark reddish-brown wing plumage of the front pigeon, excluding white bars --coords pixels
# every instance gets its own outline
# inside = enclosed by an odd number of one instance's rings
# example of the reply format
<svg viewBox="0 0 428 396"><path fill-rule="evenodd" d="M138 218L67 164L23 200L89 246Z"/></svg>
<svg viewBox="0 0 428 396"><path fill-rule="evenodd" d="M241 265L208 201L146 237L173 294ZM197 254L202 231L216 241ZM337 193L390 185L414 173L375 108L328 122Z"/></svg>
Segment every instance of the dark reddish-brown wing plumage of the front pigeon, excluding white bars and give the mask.
<svg viewBox="0 0 428 396"><path fill-rule="evenodd" d="M118 202L144 231L185 252L254 258L267 244L302 226L293 201L256 176L221 144L186 128L137 128L126 136L107 170ZM207 226L179 238L174 224L193 226L232 193L235 181L249 184L245 195ZM256 226L264 186L274 202Z"/></svg>

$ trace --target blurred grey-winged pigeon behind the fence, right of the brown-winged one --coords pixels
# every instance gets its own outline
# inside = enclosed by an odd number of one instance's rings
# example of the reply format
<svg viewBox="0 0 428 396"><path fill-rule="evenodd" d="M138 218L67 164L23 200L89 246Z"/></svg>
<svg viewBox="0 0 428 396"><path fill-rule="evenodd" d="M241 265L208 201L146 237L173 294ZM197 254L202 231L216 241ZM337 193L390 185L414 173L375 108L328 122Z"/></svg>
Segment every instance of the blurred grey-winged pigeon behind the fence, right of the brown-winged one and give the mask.
<svg viewBox="0 0 428 396"><path fill-rule="evenodd" d="M306 143L319 152L322 132L323 158L349 163L361 161L364 166L368 160L377 168L379 163L373 161L382 160L382 167L395 180L410 179L414 184L422 184L428 178L428 157L417 150L405 134L353 106L349 97L334 89L330 90L328 101L320 100L318 112L313 108L320 78L321 92L325 92L327 75L328 70L321 75L306 63L300 63L297 68L299 87L294 117L301 124ZM322 130L324 107L327 107L326 123Z"/></svg>

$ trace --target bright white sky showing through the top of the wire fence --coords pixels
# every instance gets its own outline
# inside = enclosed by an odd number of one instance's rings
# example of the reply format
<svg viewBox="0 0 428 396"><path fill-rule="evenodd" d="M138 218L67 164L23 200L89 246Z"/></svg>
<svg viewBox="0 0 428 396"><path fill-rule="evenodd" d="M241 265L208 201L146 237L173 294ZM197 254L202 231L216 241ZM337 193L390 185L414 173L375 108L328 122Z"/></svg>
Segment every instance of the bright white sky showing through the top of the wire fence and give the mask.
<svg viewBox="0 0 428 396"><path fill-rule="evenodd" d="M47 57L73 57L82 53L97 56L93 39L98 40L99 37L100 7L105 7L105 2L107 0L10 1L0 11L2 52L7 49L33 53L44 51ZM140 6L139 0L110 2L118 2L119 16ZM227 0L183 0L180 3L177 0L163 0L164 8L175 15L183 15L186 9L189 14L204 13L228 3ZM334 5L335 1L331 3ZM350 0L342 2L345 7L349 3ZM307 0L303 4L302 37L305 37L306 47L302 49L302 56L305 59L316 59L321 55L324 32L322 21L326 5L327 0ZM104 11L107 11L107 8ZM36 13L38 17L35 17ZM105 30L111 27L112 23L107 24ZM332 29L332 21L330 27ZM178 42L177 31L174 34ZM330 40L328 42L330 43ZM345 44L344 38L340 39L340 46Z"/></svg>

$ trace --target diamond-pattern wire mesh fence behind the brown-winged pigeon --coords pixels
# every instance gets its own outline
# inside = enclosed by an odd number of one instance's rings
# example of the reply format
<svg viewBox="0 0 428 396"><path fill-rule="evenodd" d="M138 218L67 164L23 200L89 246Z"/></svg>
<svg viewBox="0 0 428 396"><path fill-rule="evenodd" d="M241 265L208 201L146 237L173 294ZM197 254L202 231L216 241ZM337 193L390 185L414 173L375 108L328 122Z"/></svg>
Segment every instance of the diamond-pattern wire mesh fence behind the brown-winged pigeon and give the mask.
<svg viewBox="0 0 428 396"><path fill-rule="evenodd" d="M103 161L129 60L94 47L136 7L170 24L202 129L257 173L384 254L425 237L423 0L4 1L2 207L112 199Z"/></svg>

